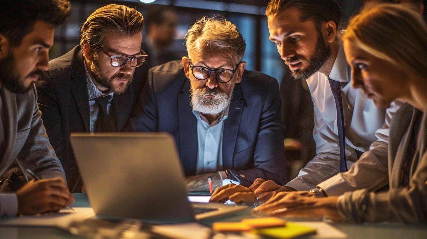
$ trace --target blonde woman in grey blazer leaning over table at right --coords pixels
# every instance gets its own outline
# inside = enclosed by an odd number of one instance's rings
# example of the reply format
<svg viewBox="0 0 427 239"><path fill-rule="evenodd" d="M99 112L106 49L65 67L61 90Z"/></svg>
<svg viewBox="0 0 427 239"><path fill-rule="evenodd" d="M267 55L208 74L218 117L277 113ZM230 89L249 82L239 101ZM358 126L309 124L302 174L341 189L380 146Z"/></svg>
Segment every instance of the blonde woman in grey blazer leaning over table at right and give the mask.
<svg viewBox="0 0 427 239"><path fill-rule="evenodd" d="M404 6L382 4L354 17L343 44L353 86L386 107L407 102L389 135L387 192L366 189L339 197L278 193L255 211L270 216L328 216L334 221L427 222L427 26Z"/></svg>

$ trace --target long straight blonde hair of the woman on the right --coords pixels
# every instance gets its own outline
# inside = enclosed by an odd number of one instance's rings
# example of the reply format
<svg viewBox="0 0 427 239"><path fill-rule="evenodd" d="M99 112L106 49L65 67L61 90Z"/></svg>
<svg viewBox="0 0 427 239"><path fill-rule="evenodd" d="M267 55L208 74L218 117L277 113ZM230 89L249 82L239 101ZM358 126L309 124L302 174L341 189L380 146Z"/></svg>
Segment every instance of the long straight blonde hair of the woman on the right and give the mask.
<svg viewBox="0 0 427 239"><path fill-rule="evenodd" d="M401 4L364 9L350 20L342 36L370 54L427 77L427 26Z"/></svg>

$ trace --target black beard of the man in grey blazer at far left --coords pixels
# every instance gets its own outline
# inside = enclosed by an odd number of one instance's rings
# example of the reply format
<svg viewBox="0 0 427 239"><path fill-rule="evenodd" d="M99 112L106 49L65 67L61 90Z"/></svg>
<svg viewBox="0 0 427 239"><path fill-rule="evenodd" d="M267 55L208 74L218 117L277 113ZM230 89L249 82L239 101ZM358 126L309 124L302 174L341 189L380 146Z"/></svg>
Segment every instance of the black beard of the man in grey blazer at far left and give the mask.
<svg viewBox="0 0 427 239"><path fill-rule="evenodd" d="M19 75L16 73L13 62L14 56L11 52L9 52L6 58L0 60L0 82L7 90L12 93L27 93L32 89L32 84L29 87L25 87L24 83L20 81ZM40 76L42 73L43 71L41 70L35 70L29 73L28 76Z"/></svg>

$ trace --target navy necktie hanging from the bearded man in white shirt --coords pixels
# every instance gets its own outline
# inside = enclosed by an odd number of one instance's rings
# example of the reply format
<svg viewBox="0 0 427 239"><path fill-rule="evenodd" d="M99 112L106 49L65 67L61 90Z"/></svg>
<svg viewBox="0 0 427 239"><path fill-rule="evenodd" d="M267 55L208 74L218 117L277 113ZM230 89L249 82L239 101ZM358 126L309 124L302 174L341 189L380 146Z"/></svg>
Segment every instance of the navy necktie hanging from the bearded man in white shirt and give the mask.
<svg viewBox="0 0 427 239"><path fill-rule="evenodd" d="M345 160L345 130L344 130L344 114L342 114L342 96L341 96L341 82L329 79L332 86L333 99L335 99L336 106L336 119L338 126L338 141L339 141L339 158L341 165L339 172L347 172L347 162Z"/></svg>

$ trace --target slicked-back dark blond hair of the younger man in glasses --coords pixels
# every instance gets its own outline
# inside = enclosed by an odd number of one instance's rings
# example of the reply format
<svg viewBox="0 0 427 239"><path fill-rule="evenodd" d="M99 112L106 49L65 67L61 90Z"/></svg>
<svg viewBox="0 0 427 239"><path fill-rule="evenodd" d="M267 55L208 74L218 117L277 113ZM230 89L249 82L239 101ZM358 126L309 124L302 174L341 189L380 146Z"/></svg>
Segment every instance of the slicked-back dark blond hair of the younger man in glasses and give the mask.
<svg viewBox="0 0 427 239"><path fill-rule="evenodd" d="M140 33L144 18L134 8L109 4L93 12L82 26L80 45L103 46L107 32L118 32L126 36Z"/></svg>

